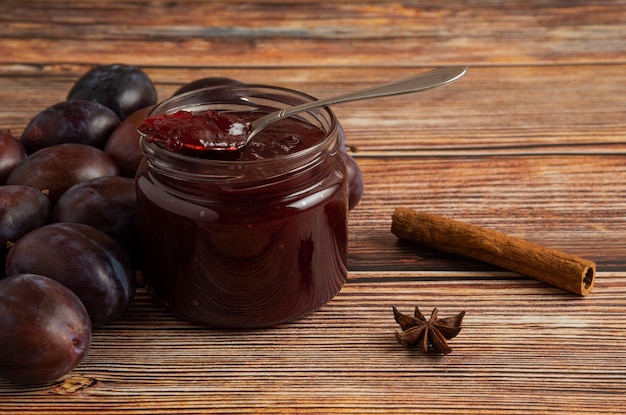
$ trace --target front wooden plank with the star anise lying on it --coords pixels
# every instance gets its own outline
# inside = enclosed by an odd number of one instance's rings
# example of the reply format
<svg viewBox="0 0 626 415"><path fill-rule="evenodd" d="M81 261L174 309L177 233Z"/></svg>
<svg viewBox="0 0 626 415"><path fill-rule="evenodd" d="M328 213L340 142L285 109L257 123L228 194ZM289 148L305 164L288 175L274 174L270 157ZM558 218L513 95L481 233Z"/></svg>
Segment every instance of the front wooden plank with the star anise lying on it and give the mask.
<svg viewBox="0 0 626 415"><path fill-rule="evenodd" d="M0 381L0 412L619 413L626 275L600 273L584 299L481 275L349 282L307 318L242 332L179 321L140 291L125 317L96 330L90 354L63 381ZM438 307L442 317L465 310L453 352L397 344L392 305Z"/></svg>

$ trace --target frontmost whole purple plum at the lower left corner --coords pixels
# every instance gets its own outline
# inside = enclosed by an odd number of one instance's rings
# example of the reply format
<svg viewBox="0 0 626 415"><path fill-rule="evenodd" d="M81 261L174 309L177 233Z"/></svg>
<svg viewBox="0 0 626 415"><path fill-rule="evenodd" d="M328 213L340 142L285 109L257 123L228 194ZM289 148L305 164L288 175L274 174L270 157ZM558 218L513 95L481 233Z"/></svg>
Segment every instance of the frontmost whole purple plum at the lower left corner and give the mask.
<svg viewBox="0 0 626 415"><path fill-rule="evenodd" d="M91 345L91 322L78 297L50 278L0 280L0 377L34 385L72 371Z"/></svg>

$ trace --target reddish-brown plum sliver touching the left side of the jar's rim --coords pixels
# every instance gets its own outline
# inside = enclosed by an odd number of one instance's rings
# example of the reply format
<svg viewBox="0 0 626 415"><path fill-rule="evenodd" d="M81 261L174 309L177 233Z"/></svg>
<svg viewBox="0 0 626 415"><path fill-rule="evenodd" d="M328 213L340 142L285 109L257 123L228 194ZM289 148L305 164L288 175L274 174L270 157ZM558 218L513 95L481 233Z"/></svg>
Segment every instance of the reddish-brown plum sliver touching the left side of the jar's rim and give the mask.
<svg viewBox="0 0 626 415"><path fill-rule="evenodd" d="M117 163L120 175L135 177L137 168L143 160L143 151L139 146L139 132L137 127L146 118L154 106L142 108L133 112L111 133L104 146L107 153Z"/></svg>

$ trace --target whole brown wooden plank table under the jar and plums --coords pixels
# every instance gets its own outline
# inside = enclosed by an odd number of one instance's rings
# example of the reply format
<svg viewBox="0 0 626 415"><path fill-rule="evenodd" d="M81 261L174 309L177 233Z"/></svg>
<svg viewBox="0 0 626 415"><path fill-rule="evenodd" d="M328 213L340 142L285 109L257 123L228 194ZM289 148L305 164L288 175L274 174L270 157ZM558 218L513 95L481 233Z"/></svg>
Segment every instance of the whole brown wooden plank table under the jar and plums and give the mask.
<svg viewBox="0 0 626 415"><path fill-rule="evenodd" d="M0 128L18 135L99 63L141 66L160 99L205 76L326 97L470 66L445 88L335 107L365 195L349 280L319 312L212 330L139 290L60 381L0 381L0 413L626 410L626 1L3 0L0 19ZM399 242L398 206L593 260L595 288ZM404 349L392 305L465 310L452 353Z"/></svg>

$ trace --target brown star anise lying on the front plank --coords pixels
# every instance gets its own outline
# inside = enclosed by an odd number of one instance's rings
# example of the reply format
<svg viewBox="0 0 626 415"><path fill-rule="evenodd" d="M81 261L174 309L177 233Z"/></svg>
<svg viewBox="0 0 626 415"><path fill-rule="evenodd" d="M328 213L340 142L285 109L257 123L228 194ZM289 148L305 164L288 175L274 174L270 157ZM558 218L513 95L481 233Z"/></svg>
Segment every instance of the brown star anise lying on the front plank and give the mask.
<svg viewBox="0 0 626 415"><path fill-rule="evenodd" d="M396 332L396 339L400 344L408 348L419 347L423 352L432 350L435 353L448 354L452 349L446 340L452 339L461 331L465 311L454 317L438 319L435 308L430 319L426 320L417 306L415 317L402 314L393 307L393 315L402 328L402 332Z"/></svg>

